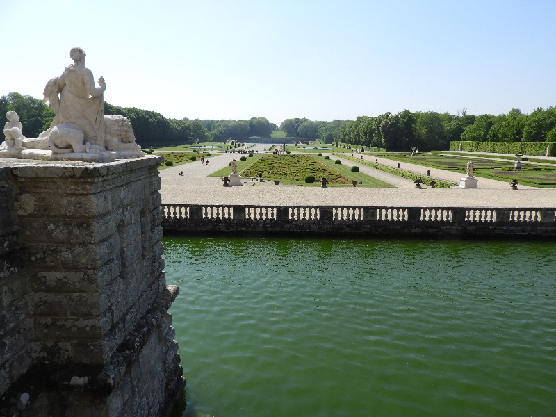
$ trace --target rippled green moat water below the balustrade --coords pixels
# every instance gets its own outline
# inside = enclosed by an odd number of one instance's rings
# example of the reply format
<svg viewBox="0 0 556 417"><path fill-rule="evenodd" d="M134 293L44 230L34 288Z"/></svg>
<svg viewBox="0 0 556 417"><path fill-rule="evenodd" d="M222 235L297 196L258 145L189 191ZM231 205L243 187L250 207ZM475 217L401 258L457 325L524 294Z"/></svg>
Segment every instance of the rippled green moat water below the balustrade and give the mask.
<svg viewBox="0 0 556 417"><path fill-rule="evenodd" d="M556 416L554 243L163 242L184 417Z"/></svg>

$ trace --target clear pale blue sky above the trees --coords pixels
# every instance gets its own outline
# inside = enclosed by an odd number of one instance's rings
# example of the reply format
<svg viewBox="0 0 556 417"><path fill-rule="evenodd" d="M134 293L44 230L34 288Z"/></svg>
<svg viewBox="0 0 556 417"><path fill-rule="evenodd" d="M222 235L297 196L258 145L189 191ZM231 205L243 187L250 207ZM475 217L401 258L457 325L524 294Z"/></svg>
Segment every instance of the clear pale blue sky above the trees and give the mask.
<svg viewBox="0 0 556 417"><path fill-rule="evenodd" d="M556 1L0 0L0 95L85 50L105 101L280 124L556 105Z"/></svg>

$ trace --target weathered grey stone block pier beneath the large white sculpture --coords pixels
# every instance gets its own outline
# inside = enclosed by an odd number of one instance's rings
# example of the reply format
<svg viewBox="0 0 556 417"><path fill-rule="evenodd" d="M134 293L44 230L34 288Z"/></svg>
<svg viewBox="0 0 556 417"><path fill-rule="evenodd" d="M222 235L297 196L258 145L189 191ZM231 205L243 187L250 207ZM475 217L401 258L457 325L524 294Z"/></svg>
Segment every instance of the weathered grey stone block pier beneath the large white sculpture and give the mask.
<svg viewBox="0 0 556 417"><path fill-rule="evenodd" d="M170 411L158 159L0 161L0 416Z"/></svg>

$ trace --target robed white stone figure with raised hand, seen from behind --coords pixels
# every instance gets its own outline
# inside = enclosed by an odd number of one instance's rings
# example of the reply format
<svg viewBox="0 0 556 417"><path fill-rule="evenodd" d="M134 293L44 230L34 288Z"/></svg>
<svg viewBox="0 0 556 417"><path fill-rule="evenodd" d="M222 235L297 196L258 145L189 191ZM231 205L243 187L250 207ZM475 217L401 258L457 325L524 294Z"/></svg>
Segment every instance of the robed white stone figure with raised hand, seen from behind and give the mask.
<svg viewBox="0 0 556 417"><path fill-rule="evenodd" d="M67 66L62 75L47 83L44 100L50 102L56 113L52 127L63 124L79 130L85 135L85 142L104 147L102 120L106 83L101 76L99 87L95 86L91 70L85 67L85 56L83 49L72 48L70 58L74 63Z"/></svg>

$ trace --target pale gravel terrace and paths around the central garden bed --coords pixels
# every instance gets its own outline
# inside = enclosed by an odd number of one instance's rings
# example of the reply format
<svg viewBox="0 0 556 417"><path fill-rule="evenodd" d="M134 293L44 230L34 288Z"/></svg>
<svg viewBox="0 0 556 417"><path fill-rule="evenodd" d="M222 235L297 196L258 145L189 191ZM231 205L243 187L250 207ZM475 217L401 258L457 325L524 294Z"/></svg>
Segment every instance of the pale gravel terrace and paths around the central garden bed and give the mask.
<svg viewBox="0 0 556 417"><path fill-rule="evenodd" d="M256 147L255 149L261 149ZM268 146L268 145L266 145ZM556 208L556 188L518 186L512 190L508 181L477 177L476 189L415 188L413 181L360 165L365 172L397 188L275 186L263 181L256 186L223 187L222 179L208 174L227 167L240 154L218 154L208 158L208 166L200 161L161 170L163 204L247 204L247 205L325 205L325 206L436 206L436 207L516 207ZM363 158L373 161L372 156ZM379 163L395 166L397 162L379 159ZM347 164L356 165L344 160ZM393 164L393 165L391 165ZM402 168L427 174L427 167L403 163ZM178 173L183 170L183 177ZM431 169L431 177L459 181L462 174ZM402 181L400 181L402 180Z"/></svg>

